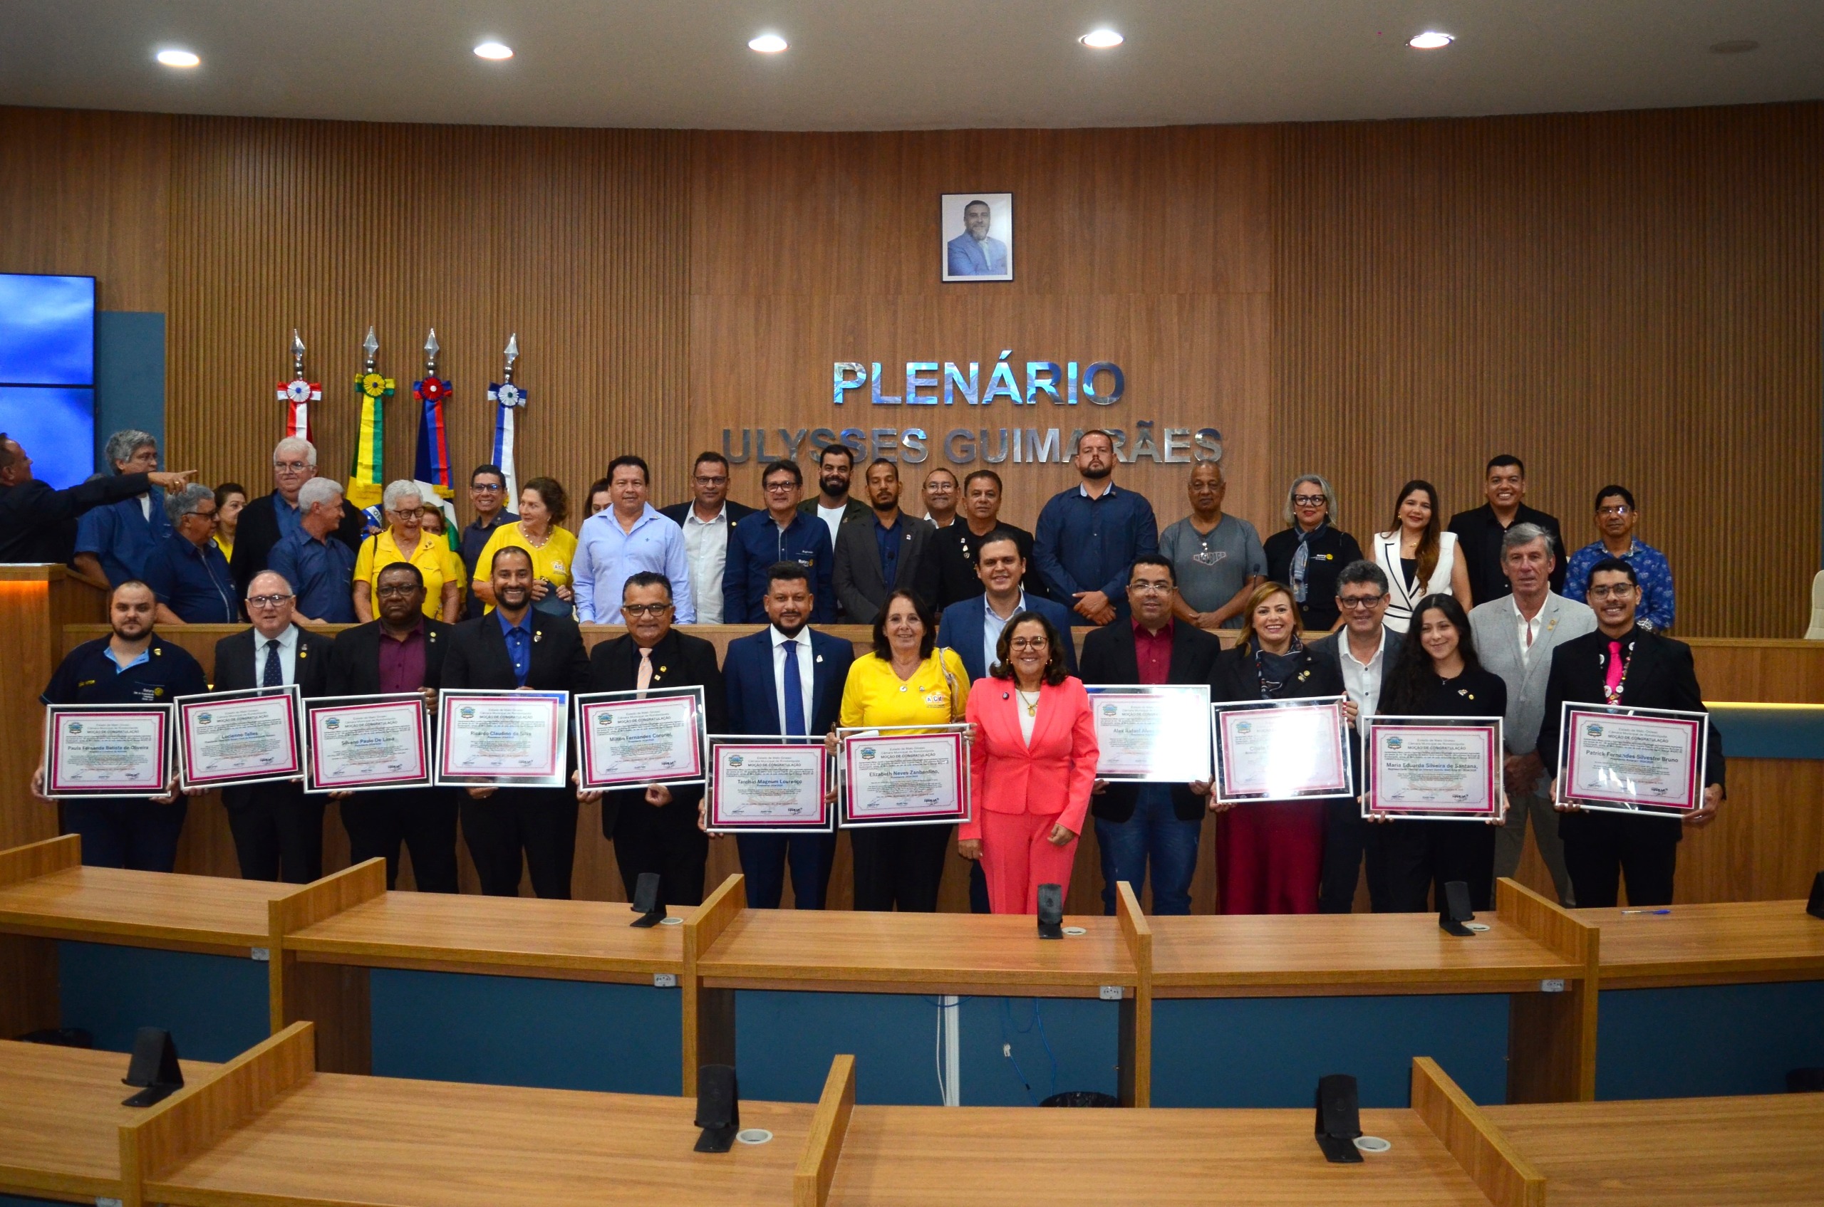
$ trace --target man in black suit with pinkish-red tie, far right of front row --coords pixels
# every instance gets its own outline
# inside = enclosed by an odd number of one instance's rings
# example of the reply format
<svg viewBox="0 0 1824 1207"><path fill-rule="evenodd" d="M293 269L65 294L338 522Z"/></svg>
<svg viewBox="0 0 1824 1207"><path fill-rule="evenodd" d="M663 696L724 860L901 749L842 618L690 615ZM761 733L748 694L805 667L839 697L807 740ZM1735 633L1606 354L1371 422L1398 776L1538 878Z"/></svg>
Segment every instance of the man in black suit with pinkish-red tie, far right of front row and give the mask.
<svg viewBox="0 0 1824 1207"><path fill-rule="evenodd" d="M1707 711L1691 664L1691 647L1634 624L1640 607L1634 565L1623 558L1603 558L1591 567L1587 587L1589 605L1596 611L1596 631L1552 651L1552 675L1545 684L1545 717L1539 720L1539 758L1554 777L1550 795L1563 813L1558 819L1558 837L1565 842L1565 870L1570 873L1578 908L1614 906L1622 877L1627 877L1629 904L1673 904L1673 877L1684 828L1707 826L1724 799L1722 737L1716 726L1709 727L1704 806L1684 817L1592 813L1574 804L1561 804L1556 775L1558 749L1565 738L1560 727L1567 700L1680 713Z"/></svg>

